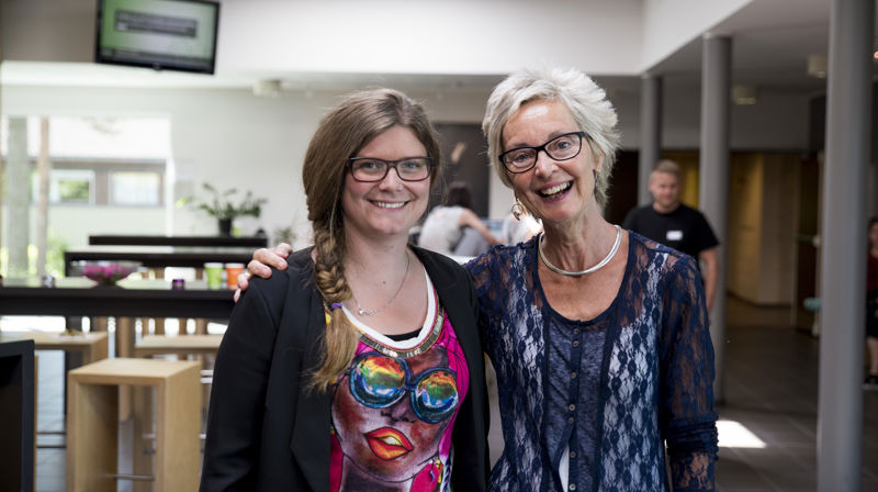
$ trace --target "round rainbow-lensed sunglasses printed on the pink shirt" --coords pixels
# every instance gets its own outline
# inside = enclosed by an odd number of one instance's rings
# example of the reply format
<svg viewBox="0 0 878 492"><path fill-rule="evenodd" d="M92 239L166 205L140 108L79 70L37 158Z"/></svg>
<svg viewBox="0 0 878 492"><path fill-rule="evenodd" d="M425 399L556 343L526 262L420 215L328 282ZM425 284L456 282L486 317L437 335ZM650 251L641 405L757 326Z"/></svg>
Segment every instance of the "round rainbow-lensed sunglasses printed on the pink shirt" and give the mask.
<svg viewBox="0 0 878 492"><path fill-rule="evenodd" d="M413 381L408 362L372 351L353 359L348 374L353 398L371 409L391 406L408 393L415 414L436 424L458 406L457 376L449 369L428 369Z"/></svg>

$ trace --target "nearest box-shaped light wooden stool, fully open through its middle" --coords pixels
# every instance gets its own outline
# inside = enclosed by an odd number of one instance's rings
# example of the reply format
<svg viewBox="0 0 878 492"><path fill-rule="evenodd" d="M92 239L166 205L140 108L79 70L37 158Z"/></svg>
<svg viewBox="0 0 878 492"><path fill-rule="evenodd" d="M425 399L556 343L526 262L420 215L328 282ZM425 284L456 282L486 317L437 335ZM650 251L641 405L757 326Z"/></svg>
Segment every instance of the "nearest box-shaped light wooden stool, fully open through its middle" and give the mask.
<svg viewBox="0 0 878 492"><path fill-rule="evenodd" d="M155 490L198 489L198 362L104 359L70 371L67 381L68 492L115 491L116 478L149 479L117 474L119 385L156 390ZM136 467L135 473L148 471Z"/></svg>

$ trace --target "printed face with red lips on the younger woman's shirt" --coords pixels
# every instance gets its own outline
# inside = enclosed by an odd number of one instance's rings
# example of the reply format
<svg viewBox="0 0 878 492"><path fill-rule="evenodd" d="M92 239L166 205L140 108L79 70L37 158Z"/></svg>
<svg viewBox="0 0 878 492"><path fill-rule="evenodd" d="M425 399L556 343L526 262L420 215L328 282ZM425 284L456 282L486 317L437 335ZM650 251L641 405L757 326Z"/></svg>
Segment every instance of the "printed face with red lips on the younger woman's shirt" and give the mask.
<svg viewBox="0 0 878 492"><path fill-rule="evenodd" d="M381 373L379 377L384 377L385 382L393 380L395 373L391 369L396 367L394 359L383 358L376 353L375 356L378 365L371 367ZM382 359L386 360L382 362ZM418 381L430 368L448 365L446 350L441 347L406 359L406 362L410 381ZM381 364L387 367L382 370ZM450 422L449 416L435 423L425 421L413 409L408 391L389 406L367 406L351 393L352 374L341 379L333 396L333 425L341 451L349 461L345 466L356 466L383 481L410 479L413 470L421 469L438 454L442 433ZM382 393L370 394L380 398Z"/></svg>

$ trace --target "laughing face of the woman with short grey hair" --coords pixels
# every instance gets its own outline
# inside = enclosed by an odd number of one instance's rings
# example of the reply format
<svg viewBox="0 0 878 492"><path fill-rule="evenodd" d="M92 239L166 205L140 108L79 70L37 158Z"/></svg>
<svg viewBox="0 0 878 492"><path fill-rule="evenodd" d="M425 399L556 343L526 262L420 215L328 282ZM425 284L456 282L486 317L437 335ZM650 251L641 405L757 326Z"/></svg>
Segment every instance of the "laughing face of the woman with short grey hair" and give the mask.
<svg viewBox="0 0 878 492"><path fill-rule="evenodd" d="M537 147L577 131L579 127L563 102L531 101L504 126L504 152ZM583 138L582 145L579 154L570 160L554 160L540 152L533 169L509 175L519 200L547 225L581 221L589 209L597 209L594 172L600 170L600 160L594 158L588 138Z"/></svg>

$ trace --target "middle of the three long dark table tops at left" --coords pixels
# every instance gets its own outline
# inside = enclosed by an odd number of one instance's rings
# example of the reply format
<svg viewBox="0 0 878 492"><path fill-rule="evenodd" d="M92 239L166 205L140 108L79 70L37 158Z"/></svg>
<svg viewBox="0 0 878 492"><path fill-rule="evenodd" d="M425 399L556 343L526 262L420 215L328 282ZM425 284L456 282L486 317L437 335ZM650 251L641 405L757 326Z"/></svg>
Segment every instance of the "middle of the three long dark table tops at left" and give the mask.
<svg viewBox="0 0 878 492"><path fill-rule="evenodd" d="M201 268L205 262L247 264L252 247L206 246L83 246L64 251L65 273L71 275L71 262L79 260L131 260L144 267Z"/></svg>

